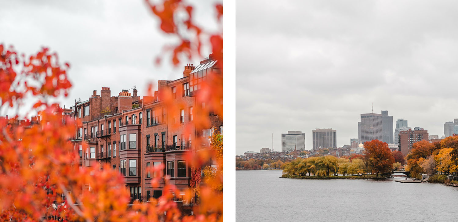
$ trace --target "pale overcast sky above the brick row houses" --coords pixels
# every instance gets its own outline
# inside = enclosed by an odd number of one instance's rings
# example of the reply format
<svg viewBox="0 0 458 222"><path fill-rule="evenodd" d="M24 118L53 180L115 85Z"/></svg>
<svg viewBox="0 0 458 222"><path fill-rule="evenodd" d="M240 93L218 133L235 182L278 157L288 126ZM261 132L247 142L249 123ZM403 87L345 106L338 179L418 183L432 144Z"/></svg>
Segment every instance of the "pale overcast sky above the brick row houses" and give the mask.
<svg viewBox="0 0 458 222"><path fill-rule="evenodd" d="M188 0L195 7L196 20L206 30L217 28L213 0ZM122 89L136 85L139 95L147 83L183 77L186 63L195 66L200 59L183 60L173 69L170 63L154 64L166 44L175 43L163 32L144 0L15 0L0 6L0 43L14 45L18 52L33 54L42 46L69 62L73 87L66 107L79 97L87 100L93 90L110 87L117 96ZM207 57L204 50L203 57ZM170 57L165 57L170 61ZM132 91L130 91L132 92Z"/></svg>

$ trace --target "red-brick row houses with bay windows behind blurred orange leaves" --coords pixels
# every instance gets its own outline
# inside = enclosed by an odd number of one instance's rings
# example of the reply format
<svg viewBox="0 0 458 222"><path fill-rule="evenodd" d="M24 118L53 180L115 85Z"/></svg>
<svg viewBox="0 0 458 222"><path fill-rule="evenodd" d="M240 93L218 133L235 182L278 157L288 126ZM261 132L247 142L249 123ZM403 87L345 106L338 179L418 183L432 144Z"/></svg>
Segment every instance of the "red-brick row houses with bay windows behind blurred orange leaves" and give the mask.
<svg viewBox="0 0 458 222"><path fill-rule="evenodd" d="M110 88L102 87L100 95L94 90L88 100L76 102L65 116L76 125L70 140L79 151L80 167L100 164L118 170L125 177L132 201L161 196L164 175L169 175L170 183L180 190L174 195L184 195L190 187L191 167L185 156L193 151L192 141L196 136L206 137L202 145L208 146L208 136L215 130L223 133L223 119L212 113L209 129L197 132L192 125L193 107L204 105L196 104L195 92L207 72L218 73L215 62L210 55L197 67L186 65L182 78L159 80L153 96L140 97L136 89L111 96ZM159 92L170 92L174 103L182 105L177 110L166 108ZM83 141L87 142L85 148ZM164 168L159 187L153 188L151 180L155 175L146 169L157 165Z"/></svg>

